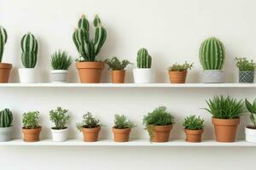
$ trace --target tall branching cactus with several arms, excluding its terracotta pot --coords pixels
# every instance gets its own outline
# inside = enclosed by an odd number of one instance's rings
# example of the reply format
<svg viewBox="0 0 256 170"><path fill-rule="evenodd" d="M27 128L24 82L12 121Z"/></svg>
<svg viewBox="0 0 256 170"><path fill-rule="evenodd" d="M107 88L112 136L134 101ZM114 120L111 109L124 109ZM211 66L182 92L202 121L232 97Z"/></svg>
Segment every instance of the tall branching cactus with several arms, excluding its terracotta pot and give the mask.
<svg viewBox="0 0 256 170"><path fill-rule="evenodd" d="M84 15L79 20L79 28L73 33L73 42L81 55L79 61L95 61L107 37L107 31L102 27L100 18L96 15L93 25L95 35L90 39L89 21Z"/></svg>

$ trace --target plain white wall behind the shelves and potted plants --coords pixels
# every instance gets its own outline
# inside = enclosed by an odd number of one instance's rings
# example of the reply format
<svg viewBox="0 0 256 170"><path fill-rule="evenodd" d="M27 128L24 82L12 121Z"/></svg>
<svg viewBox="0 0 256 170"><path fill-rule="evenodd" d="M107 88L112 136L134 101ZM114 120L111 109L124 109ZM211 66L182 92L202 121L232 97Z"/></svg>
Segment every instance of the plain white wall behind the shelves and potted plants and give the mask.
<svg viewBox="0 0 256 170"><path fill-rule="evenodd" d="M188 82L197 82L201 67L198 48L202 40L216 36L224 42L227 82L237 81L234 58L255 59L256 24L253 0L1 0L0 25L9 33L3 61L15 65L12 82L17 81L16 68L21 67L20 37L31 31L40 44L38 69L42 82L49 81L49 58L58 48L78 53L72 42L73 29L80 14L92 20L99 14L108 31L108 39L100 56L117 55L135 63L137 49L148 48L154 56L157 82L168 82L166 68L185 60L195 63ZM253 56L254 55L254 56ZM131 70L130 70L131 71ZM71 69L69 79L76 82L77 72ZM102 82L108 82L108 70ZM127 75L131 82L131 72ZM183 116L197 114L207 122L204 138L212 138L210 115L200 108L214 94L230 94L236 98L255 98L254 89L114 89L114 88L1 88L0 108L8 107L15 114L15 137L20 136L20 115L24 111L41 112L42 137L49 137L48 111L61 105L72 112L70 137L81 138L74 129L85 111L93 111L105 127L102 138L111 138L113 114L124 113L139 125L132 138L147 138L141 125L143 115L156 106L166 105L176 117L172 138L183 138L180 123ZM242 117L239 138L244 137ZM1 147L3 169L241 169L253 168L254 148L108 148L108 147ZM238 154L241 153L241 154ZM27 161L32 159L32 161ZM216 165L214 165L216 163Z"/></svg>

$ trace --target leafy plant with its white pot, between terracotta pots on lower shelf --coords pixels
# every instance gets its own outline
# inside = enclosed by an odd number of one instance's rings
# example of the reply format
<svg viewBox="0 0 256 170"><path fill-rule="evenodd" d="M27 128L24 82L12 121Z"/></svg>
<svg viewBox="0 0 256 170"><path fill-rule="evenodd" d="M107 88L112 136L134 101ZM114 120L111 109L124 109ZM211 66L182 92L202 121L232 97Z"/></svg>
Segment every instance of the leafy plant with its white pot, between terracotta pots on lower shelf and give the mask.
<svg viewBox="0 0 256 170"><path fill-rule="evenodd" d="M51 127L52 140L55 142L67 140L67 122L70 117L67 112L68 110L62 110L61 107L49 111L49 120L55 123L55 127Z"/></svg>

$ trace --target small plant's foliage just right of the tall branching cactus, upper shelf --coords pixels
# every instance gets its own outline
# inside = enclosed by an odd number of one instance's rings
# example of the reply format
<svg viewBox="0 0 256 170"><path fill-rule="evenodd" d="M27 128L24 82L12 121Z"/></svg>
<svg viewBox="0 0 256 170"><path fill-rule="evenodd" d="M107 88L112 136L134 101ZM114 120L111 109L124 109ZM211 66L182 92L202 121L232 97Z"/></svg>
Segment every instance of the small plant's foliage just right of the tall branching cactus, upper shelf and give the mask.
<svg viewBox="0 0 256 170"><path fill-rule="evenodd" d="M108 65L109 69L113 71L121 71L124 70L127 65L132 65L127 59L120 61L117 57L106 59L105 63Z"/></svg>

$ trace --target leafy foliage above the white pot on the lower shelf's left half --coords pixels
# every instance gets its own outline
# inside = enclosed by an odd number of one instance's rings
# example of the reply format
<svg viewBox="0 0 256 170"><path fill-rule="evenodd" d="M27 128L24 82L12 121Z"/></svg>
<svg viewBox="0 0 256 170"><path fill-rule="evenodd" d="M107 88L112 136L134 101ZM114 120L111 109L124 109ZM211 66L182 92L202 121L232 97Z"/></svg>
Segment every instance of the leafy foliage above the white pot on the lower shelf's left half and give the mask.
<svg viewBox="0 0 256 170"><path fill-rule="evenodd" d="M49 111L49 120L55 123L55 127L53 129L65 129L67 128L67 122L70 116L67 114L68 110L62 110L61 107L57 107L57 109Z"/></svg>

